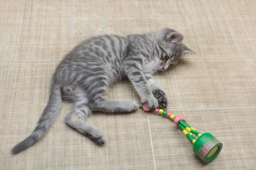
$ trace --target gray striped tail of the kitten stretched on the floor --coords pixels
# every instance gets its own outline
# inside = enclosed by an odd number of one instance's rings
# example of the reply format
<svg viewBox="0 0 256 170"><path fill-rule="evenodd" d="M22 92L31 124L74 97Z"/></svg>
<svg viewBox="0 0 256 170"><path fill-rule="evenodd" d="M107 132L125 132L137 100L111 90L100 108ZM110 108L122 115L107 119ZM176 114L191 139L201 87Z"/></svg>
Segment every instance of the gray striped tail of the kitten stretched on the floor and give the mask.
<svg viewBox="0 0 256 170"><path fill-rule="evenodd" d="M12 148L12 153L17 154L25 150L27 147L32 146L40 139L44 137L47 130L53 125L58 113L61 111L62 99L61 99L61 89L56 83L52 85L52 92L50 94L49 102L38 121L38 125L35 127L33 133L25 140L17 144Z"/></svg>

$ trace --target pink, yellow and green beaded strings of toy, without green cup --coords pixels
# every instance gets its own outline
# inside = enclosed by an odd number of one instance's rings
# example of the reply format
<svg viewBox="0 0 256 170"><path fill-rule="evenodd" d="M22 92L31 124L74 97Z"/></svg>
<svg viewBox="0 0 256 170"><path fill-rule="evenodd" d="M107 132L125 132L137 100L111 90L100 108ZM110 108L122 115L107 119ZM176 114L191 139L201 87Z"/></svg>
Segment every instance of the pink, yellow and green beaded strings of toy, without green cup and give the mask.
<svg viewBox="0 0 256 170"><path fill-rule="evenodd" d="M201 133L196 131L194 127L189 126L189 124L186 123L186 119L181 116L175 116L172 113L166 112L163 109L154 109L154 108L148 108L146 105L140 106L141 109L144 111L154 111L155 113L160 113L161 115L165 117L169 117L172 119L175 124L180 127L183 134L187 136L187 138L194 144L196 139L193 136L195 134L197 137L201 136Z"/></svg>

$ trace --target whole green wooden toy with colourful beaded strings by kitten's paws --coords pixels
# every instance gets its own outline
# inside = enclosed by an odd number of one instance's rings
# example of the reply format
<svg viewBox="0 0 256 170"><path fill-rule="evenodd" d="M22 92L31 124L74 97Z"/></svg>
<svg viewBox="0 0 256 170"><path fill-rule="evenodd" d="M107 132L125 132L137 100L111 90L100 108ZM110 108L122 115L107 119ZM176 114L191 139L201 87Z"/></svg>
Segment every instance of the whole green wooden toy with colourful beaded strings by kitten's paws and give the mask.
<svg viewBox="0 0 256 170"><path fill-rule="evenodd" d="M210 133L201 134L194 127L189 126L186 123L186 119L181 116L174 116L172 113L163 111L162 109L148 108L146 105L140 106L144 111L154 111L155 113L160 113L163 116L169 117L173 122L180 127L184 135L194 144L194 153L205 163L210 163L213 161L218 154L221 152L222 143L216 139ZM195 136L198 138L196 139Z"/></svg>

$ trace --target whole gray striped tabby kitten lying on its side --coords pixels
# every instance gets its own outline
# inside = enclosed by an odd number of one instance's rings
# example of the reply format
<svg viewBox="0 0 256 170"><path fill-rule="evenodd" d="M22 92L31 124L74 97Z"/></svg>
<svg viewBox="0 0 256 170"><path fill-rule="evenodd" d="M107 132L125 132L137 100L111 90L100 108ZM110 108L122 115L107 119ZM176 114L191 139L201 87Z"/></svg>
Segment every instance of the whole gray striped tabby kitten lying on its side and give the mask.
<svg viewBox="0 0 256 170"><path fill-rule="evenodd" d="M124 77L134 85L141 103L151 108L166 108L165 93L153 74L176 65L186 53L195 54L182 40L182 34L163 28L151 34L105 35L80 43L58 65L49 102L35 130L12 153L19 153L43 138L61 111L62 99L73 102L65 117L67 124L104 144L104 134L86 118L92 111L132 112L138 108L134 101L114 101L105 96L108 87Z"/></svg>

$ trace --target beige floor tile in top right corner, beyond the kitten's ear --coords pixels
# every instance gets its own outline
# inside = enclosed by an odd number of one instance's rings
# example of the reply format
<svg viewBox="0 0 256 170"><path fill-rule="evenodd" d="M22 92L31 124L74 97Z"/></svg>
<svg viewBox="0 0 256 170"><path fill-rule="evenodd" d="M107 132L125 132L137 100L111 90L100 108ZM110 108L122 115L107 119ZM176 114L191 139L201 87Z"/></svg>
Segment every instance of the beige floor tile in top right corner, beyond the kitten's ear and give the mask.
<svg viewBox="0 0 256 170"><path fill-rule="evenodd" d="M249 7L252 2L189 1L204 57L255 57L255 10Z"/></svg>

